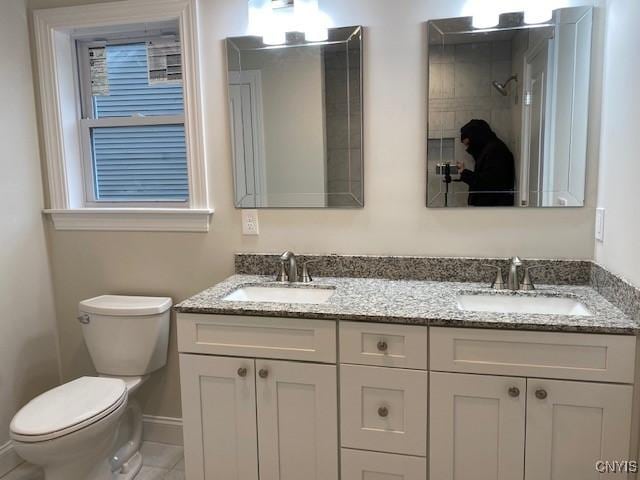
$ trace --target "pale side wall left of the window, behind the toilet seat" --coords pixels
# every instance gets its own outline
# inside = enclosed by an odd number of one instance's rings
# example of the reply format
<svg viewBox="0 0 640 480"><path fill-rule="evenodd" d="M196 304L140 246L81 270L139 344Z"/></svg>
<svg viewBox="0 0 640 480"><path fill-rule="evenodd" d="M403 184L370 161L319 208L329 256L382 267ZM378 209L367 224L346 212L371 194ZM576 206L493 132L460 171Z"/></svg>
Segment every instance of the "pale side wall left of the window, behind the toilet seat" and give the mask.
<svg viewBox="0 0 640 480"><path fill-rule="evenodd" d="M16 411L59 382L25 0L0 2L0 65L2 450Z"/></svg>

